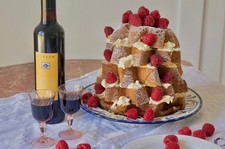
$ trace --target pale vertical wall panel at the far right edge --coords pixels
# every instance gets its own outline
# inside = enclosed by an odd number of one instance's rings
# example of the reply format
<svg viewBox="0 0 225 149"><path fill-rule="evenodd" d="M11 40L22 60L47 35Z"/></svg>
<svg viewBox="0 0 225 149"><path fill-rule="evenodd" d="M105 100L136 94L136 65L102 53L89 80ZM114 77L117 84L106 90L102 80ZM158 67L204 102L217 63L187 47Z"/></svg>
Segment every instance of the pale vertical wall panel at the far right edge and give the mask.
<svg viewBox="0 0 225 149"><path fill-rule="evenodd" d="M225 84L225 1L207 0L202 33L200 70Z"/></svg>

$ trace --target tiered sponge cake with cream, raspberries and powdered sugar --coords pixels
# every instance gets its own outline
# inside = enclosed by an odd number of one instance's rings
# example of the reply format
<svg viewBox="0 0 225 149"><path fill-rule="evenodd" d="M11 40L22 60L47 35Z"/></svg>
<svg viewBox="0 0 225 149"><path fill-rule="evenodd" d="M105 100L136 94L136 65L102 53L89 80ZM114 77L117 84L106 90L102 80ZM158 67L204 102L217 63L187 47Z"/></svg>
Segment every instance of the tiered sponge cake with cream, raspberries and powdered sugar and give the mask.
<svg viewBox="0 0 225 149"><path fill-rule="evenodd" d="M105 60L95 83L99 106L145 120L184 109L188 88L181 78L179 41L167 28L168 19L142 6L137 14L126 11L122 23L116 30L104 29ZM147 109L151 118L145 116Z"/></svg>

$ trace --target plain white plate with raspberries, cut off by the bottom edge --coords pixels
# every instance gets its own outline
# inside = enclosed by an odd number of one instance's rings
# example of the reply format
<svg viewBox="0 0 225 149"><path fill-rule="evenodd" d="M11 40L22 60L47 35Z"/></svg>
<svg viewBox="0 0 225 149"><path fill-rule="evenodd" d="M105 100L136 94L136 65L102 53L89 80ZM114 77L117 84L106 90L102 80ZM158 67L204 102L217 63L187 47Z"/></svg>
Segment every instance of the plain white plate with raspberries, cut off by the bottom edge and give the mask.
<svg viewBox="0 0 225 149"><path fill-rule="evenodd" d="M126 143L121 149L164 149L163 139L166 135L141 137ZM176 135L180 149L222 149L207 140L191 136Z"/></svg>

